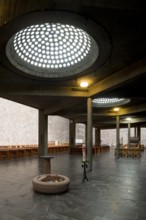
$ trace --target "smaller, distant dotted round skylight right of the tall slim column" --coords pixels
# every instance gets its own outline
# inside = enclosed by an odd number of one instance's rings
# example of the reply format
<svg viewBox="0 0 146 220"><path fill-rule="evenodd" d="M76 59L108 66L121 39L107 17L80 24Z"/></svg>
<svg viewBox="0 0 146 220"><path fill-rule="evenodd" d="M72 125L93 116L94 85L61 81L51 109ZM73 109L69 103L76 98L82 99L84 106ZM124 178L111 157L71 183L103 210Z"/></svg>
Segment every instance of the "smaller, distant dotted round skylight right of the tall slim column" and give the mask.
<svg viewBox="0 0 146 220"><path fill-rule="evenodd" d="M97 98L93 99L93 107L113 107L120 106L130 102L130 99L125 98Z"/></svg>

